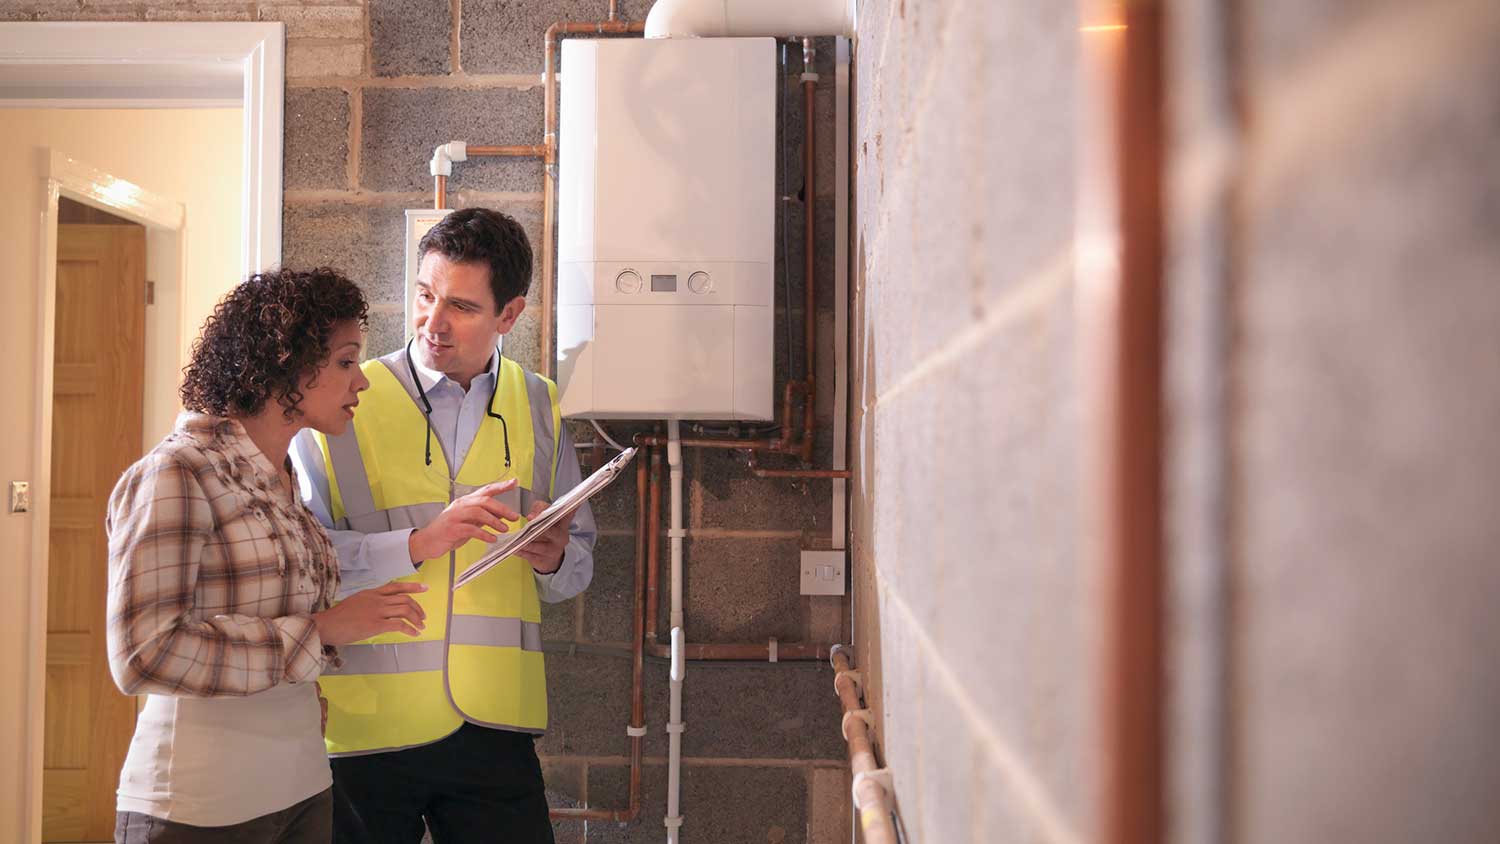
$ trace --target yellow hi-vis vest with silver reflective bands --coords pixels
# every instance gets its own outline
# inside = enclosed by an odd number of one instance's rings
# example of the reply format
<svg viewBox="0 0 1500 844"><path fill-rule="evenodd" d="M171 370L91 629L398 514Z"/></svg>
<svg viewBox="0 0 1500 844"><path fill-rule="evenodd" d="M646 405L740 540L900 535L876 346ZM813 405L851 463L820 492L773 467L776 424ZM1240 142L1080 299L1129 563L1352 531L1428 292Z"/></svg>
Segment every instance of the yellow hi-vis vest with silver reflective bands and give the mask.
<svg viewBox="0 0 1500 844"><path fill-rule="evenodd" d="M428 423L400 358L366 361L363 370L370 387L354 423L340 436L318 436L336 528L422 528L466 490L513 477L532 495L552 498L561 414L550 381L500 358L495 412L506 418L512 465L506 468L501 421L486 415L453 474L438 445L432 466L424 463ZM531 564L512 556L452 589L484 550L471 540L399 579L428 586L412 595L428 613L417 637L384 633L339 646L342 667L320 678L328 699L328 756L430 744L464 721L546 730L542 607Z"/></svg>

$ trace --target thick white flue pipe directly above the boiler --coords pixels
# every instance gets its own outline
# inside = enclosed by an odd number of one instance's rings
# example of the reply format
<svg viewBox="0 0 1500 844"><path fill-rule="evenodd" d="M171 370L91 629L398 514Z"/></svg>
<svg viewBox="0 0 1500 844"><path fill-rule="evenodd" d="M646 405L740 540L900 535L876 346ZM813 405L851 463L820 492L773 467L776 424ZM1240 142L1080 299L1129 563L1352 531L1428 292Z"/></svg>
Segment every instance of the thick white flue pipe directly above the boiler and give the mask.
<svg viewBox="0 0 1500 844"><path fill-rule="evenodd" d="M854 37L855 0L657 0L646 37Z"/></svg>

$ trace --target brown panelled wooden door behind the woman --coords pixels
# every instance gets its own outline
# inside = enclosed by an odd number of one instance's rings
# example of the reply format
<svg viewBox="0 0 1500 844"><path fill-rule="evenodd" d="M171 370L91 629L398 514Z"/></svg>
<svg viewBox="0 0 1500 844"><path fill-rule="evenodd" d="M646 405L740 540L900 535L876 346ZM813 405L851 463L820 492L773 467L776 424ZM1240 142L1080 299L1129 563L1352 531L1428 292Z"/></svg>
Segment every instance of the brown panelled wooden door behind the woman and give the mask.
<svg viewBox="0 0 1500 844"><path fill-rule="evenodd" d="M135 730L105 657L105 505L141 456L146 229L57 226L42 841L112 841Z"/></svg>

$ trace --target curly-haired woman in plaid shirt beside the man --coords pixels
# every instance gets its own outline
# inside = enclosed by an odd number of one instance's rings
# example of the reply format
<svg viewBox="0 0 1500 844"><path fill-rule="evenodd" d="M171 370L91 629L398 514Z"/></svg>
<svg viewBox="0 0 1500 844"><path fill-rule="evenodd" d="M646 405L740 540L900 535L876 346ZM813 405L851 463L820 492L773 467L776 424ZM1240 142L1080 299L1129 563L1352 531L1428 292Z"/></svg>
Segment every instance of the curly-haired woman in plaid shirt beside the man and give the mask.
<svg viewBox="0 0 1500 844"><path fill-rule="evenodd" d="M416 583L333 606L338 558L286 459L354 418L364 321L333 270L238 285L194 345L188 411L110 496L110 670L147 696L117 843L330 840L318 675L336 645L423 627Z"/></svg>

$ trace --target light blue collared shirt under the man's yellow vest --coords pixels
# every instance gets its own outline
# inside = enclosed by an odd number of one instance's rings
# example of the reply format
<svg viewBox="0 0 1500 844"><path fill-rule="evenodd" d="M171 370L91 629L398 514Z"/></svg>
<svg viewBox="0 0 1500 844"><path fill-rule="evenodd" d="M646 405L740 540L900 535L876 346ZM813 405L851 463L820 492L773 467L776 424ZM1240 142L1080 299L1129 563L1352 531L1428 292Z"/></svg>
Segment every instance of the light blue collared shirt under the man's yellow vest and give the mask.
<svg viewBox="0 0 1500 844"><path fill-rule="evenodd" d="M398 366L406 366L405 349L394 351L382 360ZM441 442L442 453L453 459L454 466L464 465L464 457L474 445L474 436L484 421L484 411L489 405L490 391L500 370L500 357L490 355L489 369L474 376L470 388L464 390L456 381L434 372L417 360L411 358L422 381L422 388L432 402L432 435ZM302 499L312 510L318 522L328 531L333 547L339 553L339 574L342 583L339 597L344 598L362 589L370 589L387 583L396 577L414 573L417 568L411 562L408 550L410 529L386 531L381 534L363 534L360 531L336 531L333 528L333 508L328 504L328 472L322 463L322 450L312 430L302 430L291 444L291 459L297 466L297 477L302 486ZM578 466L578 453L573 450L573 435L567 426L558 432L558 465L555 466L556 495L573 489L584 480ZM537 490L542 492L542 490ZM550 574L537 574L537 595L548 603L566 601L582 592L594 577L594 540L598 529L594 525L594 514L585 502L573 514L568 525L567 550L562 552L562 565Z"/></svg>

